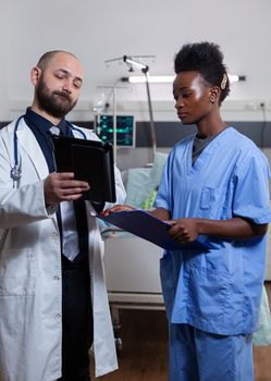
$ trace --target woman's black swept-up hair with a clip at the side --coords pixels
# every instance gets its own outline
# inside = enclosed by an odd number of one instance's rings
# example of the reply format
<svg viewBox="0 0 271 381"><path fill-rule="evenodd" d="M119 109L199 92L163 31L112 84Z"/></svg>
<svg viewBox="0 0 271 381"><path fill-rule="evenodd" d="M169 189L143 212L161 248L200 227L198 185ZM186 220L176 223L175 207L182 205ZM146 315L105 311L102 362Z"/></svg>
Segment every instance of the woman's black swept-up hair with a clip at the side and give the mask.
<svg viewBox="0 0 271 381"><path fill-rule="evenodd" d="M221 105L230 93L230 81L223 59L224 56L215 44L186 44L175 56L174 70L176 74L196 71L208 84L218 86L221 89Z"/></svg>

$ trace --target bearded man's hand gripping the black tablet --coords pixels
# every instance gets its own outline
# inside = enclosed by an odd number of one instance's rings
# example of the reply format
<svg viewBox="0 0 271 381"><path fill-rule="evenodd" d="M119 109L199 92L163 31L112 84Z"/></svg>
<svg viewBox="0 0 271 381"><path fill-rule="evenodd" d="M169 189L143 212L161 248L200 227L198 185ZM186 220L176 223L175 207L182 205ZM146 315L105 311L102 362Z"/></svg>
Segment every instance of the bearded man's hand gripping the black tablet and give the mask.
<svg viewBox="0 0 271 381"><path fill-rule="evenodd" d="M44 182L46 205L76 200L88 189L87 182L74 180L74 173L70 172L50 173Z"/></svg>

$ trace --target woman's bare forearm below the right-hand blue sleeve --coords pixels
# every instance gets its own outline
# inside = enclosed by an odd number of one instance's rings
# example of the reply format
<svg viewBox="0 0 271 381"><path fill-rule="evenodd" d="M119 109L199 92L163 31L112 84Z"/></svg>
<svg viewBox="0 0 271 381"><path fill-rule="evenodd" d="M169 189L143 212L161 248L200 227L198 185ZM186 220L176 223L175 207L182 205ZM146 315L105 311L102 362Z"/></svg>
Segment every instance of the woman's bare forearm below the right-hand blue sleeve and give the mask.
<svg viewBox="0 0 271 381"><path fill-rule="evenodd" d="M242 218L231 220L196 219L198 234L227 238L247 238L264 235L268 224L256 224Z"/></svg>

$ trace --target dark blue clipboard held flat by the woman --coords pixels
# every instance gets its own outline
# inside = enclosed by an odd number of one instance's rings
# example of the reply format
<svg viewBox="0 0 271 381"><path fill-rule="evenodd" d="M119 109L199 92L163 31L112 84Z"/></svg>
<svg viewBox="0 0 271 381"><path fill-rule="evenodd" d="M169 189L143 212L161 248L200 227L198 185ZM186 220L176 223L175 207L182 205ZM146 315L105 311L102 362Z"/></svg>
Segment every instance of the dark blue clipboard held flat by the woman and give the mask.
<svg viewBox="0 0 271 381"><path fill-rule="evenodd" d="M119 211L107 217L99 214L97 218L168 250L198 249L208 251L210 248L198 239L189 244L176 243L168 233L172 226L170 223L159 220L141 209Z"/></svg>

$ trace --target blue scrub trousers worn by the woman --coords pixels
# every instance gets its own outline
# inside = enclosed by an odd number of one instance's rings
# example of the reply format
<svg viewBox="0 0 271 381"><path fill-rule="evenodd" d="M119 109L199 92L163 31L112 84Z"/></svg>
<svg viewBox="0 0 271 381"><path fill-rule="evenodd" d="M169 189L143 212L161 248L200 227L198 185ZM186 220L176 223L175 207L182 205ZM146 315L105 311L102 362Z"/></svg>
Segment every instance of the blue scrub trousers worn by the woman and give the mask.
<svg viewBox="0 0 271 381"><path fill-rule="evenodd" d="M170 381L252 381L252 335L170 324Z"/></svg>

